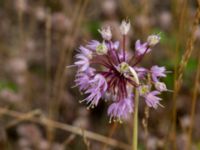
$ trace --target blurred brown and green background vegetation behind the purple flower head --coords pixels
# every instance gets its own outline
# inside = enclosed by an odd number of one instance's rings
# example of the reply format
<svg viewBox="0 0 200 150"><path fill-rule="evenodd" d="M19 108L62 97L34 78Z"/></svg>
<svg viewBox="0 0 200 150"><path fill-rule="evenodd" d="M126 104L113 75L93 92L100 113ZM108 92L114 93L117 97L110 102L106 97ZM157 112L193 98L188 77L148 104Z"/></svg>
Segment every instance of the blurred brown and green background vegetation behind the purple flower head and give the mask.
<svg viewBox="0 0 200 150"><path fill-rule="evenodd" d="M78 102L84 96L71 88L76 70L66 69L80 44L101 39L101 26L110 25L113 39L121 39L118 27L127 18L132 51L137 39L161 34L161 43L142 65L166 66L171 73L164 82L175 90L162 95L164 108L150 109L148 138L141 102L140 149L171 150L176 145L183 150L191 132L189 150L199 150L199 13L195 0L0 0L0 149L117 150L124 147L120 142L131 144L132 121L109 124L105 103L86 110ZM79 127L73 129L82 129L82 135L67 127L64 131L62 125ZM84 129L117 144L88 137Z"/></svg>

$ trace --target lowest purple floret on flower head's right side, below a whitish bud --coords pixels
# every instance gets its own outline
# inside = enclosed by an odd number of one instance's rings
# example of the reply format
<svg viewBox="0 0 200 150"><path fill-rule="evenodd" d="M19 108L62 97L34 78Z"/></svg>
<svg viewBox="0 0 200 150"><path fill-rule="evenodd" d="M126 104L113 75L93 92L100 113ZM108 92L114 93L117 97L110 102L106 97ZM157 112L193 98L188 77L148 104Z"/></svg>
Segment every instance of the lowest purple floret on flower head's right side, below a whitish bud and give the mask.
<svg viewBox="0 0 200 150"><path fill-rule="evenodd" d="M160 100L162 99L157 97L158 94L160 94L160 92L152 91L148 93L146 96L144 96L145 102L149 107L153 107L156 109L158 105L160 105Z"/></svg>

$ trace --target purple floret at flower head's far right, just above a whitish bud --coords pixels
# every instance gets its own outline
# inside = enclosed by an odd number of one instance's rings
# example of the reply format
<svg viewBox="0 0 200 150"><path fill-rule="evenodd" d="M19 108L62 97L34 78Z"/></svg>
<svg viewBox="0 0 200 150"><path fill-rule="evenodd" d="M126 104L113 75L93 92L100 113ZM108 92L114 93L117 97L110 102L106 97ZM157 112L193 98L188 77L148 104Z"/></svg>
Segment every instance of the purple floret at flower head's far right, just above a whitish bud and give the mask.
<svg viewBox="0 0 200 150"><path fill-rule="evenodd" d="M154 82L158 82L158 77L166 77L165 67L153 66L151 67L151 76Z"/></svg>

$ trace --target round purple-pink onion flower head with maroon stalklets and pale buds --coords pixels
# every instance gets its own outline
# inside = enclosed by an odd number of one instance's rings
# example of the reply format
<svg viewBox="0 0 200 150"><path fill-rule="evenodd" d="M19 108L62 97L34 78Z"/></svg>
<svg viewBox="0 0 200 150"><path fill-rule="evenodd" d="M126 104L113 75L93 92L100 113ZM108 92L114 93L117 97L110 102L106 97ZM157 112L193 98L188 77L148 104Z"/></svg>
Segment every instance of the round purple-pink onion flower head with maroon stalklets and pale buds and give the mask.
<svg viewBox="0 0 200 150"><path fill-rule="evenodd" d="M130 22L122 21L122 35L126 35L129 29ZM134 89L139 90L140 97L149 107L160 106L158 95L167 91L166 85L159 81L166 77L165 67L155 65L148 69L138 65L160 37L151 35L143 44L137 40L135 53L131 56L123 47L125 43L111 40L110 27L98 31L103 40L92 40L80 46L75 56L75 86L87 95L80 102L86 102L89 109L106 100L110 104L107 111L110 121L118 122L128 119L134 112Z"/></svg>

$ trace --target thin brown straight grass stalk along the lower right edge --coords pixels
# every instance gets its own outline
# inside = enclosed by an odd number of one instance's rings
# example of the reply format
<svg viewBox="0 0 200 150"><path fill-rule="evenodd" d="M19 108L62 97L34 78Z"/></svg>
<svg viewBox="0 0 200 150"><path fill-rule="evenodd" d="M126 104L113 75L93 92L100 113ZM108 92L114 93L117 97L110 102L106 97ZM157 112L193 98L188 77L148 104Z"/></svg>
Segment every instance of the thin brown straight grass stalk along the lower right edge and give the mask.
<svg viewBox="0 0 200 150"><path fill-rule="evenodd" d="M200 53L199 53L200 54ZM186 149L191 150L191 144L192 144L192 131L193 131L193 126L194 126L194 119L195 119L195 111L196 111L196 101L197 101L197 95L198 95L198 89L200 87L200 55L198 58L198 66L197 66L197 73L195 77L195 85L194 85L194 90L193 90L193 95L192 95L192 106L191 106L191 111L190 111L190 126L189 126L189 131L188 131L188 142Z"/></svg>

